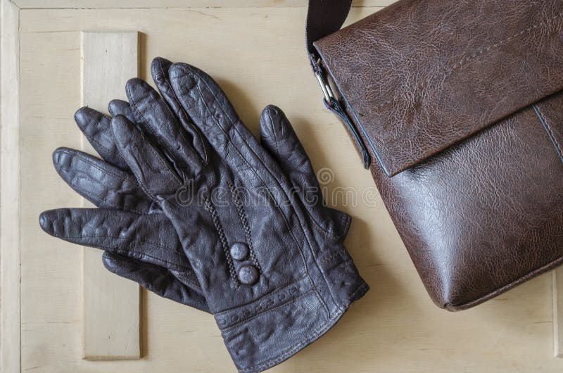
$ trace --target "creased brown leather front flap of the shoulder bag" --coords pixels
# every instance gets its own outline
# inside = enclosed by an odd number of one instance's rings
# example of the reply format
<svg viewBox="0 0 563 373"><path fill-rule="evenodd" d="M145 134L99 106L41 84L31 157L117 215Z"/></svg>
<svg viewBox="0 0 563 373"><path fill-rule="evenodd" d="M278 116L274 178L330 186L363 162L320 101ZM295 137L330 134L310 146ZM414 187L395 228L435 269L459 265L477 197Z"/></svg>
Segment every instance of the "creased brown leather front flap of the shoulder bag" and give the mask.
<svg viewBox="0 0 563 373"><path fill-rule="evenodd" d="M315 48L392 176L563 88L563 1L401 0Z"/></svg>

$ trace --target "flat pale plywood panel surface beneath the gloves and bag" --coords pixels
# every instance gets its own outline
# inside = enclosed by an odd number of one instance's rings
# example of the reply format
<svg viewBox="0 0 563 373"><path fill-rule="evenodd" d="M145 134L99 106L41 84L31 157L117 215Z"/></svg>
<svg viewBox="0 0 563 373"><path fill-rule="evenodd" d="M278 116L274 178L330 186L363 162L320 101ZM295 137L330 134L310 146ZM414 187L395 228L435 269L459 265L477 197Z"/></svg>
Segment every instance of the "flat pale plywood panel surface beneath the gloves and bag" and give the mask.
<svg viewBox="0 0 563 373"><path fill-rule="evenodd" d="M351 19L376 10L355 8ZM255 134L267 103L284 108L315 168L330 169L329 196L341 187L360 196L332 202L354 218L346 246L371 290L272 372L562 371L552 353L551 274L464 312L431 303L369 172L322 105L305 57L304 19L305 8L291 6L20 11L22 370L234 372L212 317L151 293L141 304L141 360L82 360L80 248L37 224L42 210L80 206L51 165L56 146L80 146L72 121L80 106L80 30L140 30L142 77L154 56L203 68Z"/></svg>

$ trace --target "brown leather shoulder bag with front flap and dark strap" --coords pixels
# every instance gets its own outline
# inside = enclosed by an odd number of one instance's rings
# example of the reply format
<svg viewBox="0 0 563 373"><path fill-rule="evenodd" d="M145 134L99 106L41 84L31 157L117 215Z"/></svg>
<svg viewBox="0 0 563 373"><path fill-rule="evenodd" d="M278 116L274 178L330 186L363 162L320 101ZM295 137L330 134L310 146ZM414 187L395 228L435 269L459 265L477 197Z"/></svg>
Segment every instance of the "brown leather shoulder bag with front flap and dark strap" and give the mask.
<svg viewBox="0 0 563 373"><path fill-rule="evenodd" d="M434 302L462 310L563 261L563 1L400 0L310 61Z"/></svg>

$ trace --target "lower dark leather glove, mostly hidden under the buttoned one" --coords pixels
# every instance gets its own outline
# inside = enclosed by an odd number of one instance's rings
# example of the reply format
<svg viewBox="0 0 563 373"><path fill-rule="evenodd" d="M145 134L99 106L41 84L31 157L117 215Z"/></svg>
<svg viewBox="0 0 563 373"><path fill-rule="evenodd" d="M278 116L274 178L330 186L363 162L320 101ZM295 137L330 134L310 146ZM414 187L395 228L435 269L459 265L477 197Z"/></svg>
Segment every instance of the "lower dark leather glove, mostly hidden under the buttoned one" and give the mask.
<svg viewBox="0 0 563 373"><path fill-rule="evenodd" d="M125 101L110 103L112 115L127 115ZM53 165L61 178L98 206L46 211L45 232L65 241L104 250L103 265L165 298L209 312L205 298L170 221L150 201L131 175L113 140L110 118L80 108L75 121L103 158L58 148Z"/></svg>

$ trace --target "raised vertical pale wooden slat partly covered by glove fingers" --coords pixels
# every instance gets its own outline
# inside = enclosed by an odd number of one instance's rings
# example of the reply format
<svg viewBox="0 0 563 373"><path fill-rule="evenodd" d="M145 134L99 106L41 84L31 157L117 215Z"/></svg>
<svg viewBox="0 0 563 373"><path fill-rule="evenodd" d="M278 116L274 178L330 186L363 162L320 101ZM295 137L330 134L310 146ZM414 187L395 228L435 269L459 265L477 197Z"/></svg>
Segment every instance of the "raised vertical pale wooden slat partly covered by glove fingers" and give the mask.
<svg viewBox="0 0 563 373"><path fill-rule="evenodd" d="M138 32L82 32L82 105L106 112L108 101L125 98L125 82L139 75L138 46ZM84 138L82 148L95 154ZM95 248L84 248L82 270L84 358L140 358L139 286L108 272Z"/></svg>

